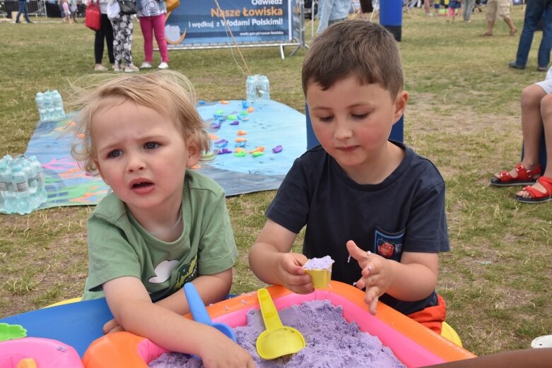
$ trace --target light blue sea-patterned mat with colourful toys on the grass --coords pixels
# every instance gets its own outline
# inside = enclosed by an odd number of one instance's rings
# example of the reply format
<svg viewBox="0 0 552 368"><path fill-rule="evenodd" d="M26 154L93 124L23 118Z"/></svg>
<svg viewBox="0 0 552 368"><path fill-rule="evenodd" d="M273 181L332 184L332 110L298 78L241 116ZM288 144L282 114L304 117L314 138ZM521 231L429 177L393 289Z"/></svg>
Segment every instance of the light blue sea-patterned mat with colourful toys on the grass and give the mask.
<svg viewBox="0 0 552 368"><path fill-rule="evenodd" d="M247 112L242 101L201 102L198 106L213 143L226 140L225 148L233 151L240 144L236 138L247 139L242 147L245 156L216 155L198 169L213 177L227 196L278 189L293 160L307 146L304 114L276 101L256 102L253 108ZM225 120L220 128L211 128L211 124L216 124L216 114L222 114ZM230 124L228 115L239 116L239 124ZM37 124L25 152L27 156L35 155L45 170L48 199L40 208L95 205L107 194L108 187L102 179L83 172L71 158L71 136L64 133L72 116ZM238 131L245 135L238 135ZM263 155L254 157L249 153L259 146L264 147ZM272 152L276 146L282 146L280 153ZM213 144L212 150L216 149L222 150Z"/></svg>

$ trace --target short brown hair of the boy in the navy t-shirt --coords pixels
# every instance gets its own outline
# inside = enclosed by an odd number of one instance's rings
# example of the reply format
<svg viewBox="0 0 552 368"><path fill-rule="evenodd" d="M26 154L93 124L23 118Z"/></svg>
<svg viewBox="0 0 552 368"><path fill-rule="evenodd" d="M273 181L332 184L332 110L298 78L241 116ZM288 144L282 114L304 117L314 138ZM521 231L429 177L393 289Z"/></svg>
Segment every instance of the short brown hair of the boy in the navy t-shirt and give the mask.
<svg viewBox="0 0 552 368"><path fill-rule="evenodd" d="M331 25L317 36L303 61L303 93L309 83L323 90L351 75L361 83L380 83L397 97L403 88L399 46L391 32L365 20Z"/></svg>

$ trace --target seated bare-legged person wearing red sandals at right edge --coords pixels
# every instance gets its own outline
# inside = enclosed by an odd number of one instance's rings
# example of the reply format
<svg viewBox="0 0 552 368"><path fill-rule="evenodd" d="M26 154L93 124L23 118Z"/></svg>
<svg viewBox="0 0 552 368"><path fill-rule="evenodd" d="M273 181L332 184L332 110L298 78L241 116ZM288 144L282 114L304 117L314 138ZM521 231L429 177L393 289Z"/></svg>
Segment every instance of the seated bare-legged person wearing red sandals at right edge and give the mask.
<svg viewBox="0 0 552 368"><path fill-rule="evenodd" d="M539 162L541 140L552 147L552 68L544 81L528 85L522 91L522 133L524 155L522 162L510 171L491 178L494 186L523 185L515 198L523 203L542 203L552 200L552 149L546 150L546 169Z"/></svg>

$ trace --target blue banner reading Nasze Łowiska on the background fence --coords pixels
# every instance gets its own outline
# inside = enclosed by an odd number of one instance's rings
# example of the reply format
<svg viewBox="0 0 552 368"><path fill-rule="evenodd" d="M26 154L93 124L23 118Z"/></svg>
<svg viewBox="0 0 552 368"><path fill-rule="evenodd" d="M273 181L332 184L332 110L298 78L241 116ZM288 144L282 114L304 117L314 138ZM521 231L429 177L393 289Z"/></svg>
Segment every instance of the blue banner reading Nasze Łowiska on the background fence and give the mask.
<svg viewBox="0 0 552 368"><path fill-rule="evenodd" d="M290 42L291 0L180 0L165 21L169 47ZM231 35L230 35L231 32Z"/></svg>

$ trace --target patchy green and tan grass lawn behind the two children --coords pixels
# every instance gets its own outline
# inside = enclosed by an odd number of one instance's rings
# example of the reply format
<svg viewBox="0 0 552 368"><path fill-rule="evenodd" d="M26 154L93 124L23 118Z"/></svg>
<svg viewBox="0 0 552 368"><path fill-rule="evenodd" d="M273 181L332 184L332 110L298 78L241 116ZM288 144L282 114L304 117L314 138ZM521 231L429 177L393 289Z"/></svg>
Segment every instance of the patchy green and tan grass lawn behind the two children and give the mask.
<svg viewBox="0 0 552 368"><path fill-rule="evenodd" d="M0 155L25 152L38 120L38 91L57 89L66 96L71 81L93 73L94 34L82 19L78 24L33 20L0 22ZM512 20L521 32L519 6ZM519 162L519 95L545 76L536 71L541 32L535 34L527 69L520 71L507 67L519 37L509 37L500 21L493 37L479 37L485 30L484 13L476 12L471 23L459 18L447 23L418 9L404 14L400 42L411 94L405 142L433 160L447 182L452 250L440 256L438 292L447 301L447 321L476 355L528 348L536 336L552 333L552 202L520 204L513 199L516 188L488 186L493 172ZM143 61L142 44L136 23L137 65ZM286 48L286 54L292 50ZM251 73L269 77L273 100L304 112L300 67L306 51L283 60L277 47L242 49L242 54ZM170 67L189 76L201 100L245 97L247 68L235 49L171 51ZM247 251L274 194L227 200L240 249L232 292L263 285L249 271ZM92 210L0 215L0 317L81 295L88 270L86 218ZM296 245L299 250L300 239Z"/></svg>

